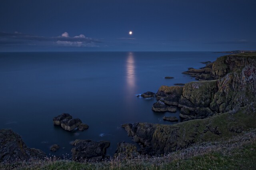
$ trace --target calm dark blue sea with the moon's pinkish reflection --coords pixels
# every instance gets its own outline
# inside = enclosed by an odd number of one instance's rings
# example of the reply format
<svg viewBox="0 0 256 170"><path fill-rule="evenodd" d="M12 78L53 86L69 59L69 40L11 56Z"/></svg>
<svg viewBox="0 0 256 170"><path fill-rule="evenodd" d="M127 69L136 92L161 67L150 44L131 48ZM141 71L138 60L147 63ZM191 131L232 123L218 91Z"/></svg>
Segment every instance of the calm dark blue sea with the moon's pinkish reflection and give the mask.
<svg viewBox="0 0 256 170"><path fill-rule="evenodd" d="M109 140L113 155L120 141L132 142L124 123L163 121L151 110L154 98L137 98L161 85L194 81L181 74L222 54L212 52L22 52L0 53L0 128L11 128L30 148L71 154L76 139ZM164 79L172 76L174 79ZM89 125L68 132L52 118L69 113ZM60 150L50 152L52 144Z"/></svg>

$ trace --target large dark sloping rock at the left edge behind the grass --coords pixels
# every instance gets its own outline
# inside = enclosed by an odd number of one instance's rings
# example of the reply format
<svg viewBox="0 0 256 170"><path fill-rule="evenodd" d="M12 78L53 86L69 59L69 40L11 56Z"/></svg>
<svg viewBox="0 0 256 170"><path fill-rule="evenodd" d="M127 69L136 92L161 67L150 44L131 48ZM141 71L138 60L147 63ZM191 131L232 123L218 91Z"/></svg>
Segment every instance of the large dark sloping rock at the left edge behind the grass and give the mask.
<svg viewBox="0 0 256 170"><path fill-rule="evenodd" d="M20 135L10 129L0 130L0 162L15 162L31 159L44 159L41 150L28 148Z"/></svg>

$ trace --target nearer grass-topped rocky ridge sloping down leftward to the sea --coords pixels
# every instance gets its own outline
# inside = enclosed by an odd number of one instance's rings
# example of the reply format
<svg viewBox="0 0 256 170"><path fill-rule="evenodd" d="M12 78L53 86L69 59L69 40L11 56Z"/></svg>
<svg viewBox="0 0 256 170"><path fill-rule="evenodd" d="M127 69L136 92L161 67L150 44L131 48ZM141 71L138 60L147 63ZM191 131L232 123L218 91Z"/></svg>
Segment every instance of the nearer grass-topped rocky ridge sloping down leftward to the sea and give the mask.
<svg viewBox="0 0 256 170"><path fill-rule="evenodd" d="M168 154L192 144L214 141L256 128L256 102L206 119L174 125L134 123L122 127L142 146L142 154Z"/></svg>

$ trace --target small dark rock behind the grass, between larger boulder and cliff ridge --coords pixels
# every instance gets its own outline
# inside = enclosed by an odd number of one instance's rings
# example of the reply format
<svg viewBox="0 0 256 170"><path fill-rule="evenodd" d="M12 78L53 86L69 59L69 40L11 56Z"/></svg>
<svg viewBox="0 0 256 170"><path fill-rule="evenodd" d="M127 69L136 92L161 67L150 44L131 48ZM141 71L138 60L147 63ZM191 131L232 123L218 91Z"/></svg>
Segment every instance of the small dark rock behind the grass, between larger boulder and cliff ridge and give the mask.
<svg viewBox="0 0 256 170"><path fill-rule="evenodd" d="M140 153L137 150L137 147L134 144L129 144L126 142L119 142L117 144L116 152L114 157L125 158L125 157L137 157Z"/></svg>

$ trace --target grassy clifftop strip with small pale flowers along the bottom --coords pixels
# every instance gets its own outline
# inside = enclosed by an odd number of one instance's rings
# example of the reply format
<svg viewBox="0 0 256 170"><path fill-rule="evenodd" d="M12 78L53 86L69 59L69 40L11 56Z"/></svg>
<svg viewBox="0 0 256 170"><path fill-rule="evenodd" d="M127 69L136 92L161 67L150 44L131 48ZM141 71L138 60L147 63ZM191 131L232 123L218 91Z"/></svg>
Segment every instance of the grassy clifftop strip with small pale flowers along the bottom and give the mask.
<svg viewBox="0 0 256 170"><path fill-rule="evenodd" d="M0 164L1 170L255 170L256 130L229 140L195 145L164 156L74 162L46 158L30 162Z"/></svg>

